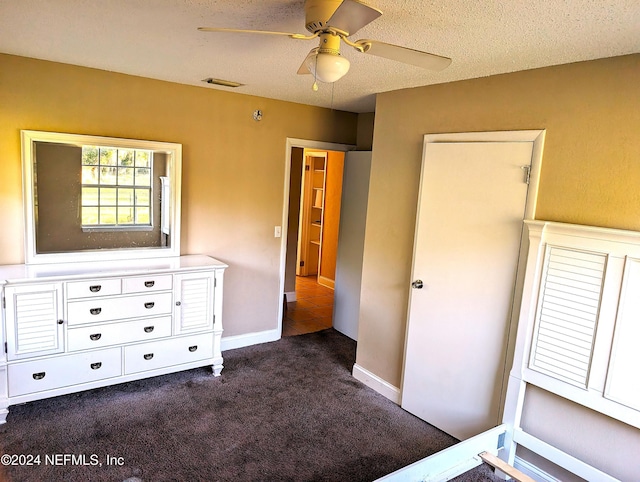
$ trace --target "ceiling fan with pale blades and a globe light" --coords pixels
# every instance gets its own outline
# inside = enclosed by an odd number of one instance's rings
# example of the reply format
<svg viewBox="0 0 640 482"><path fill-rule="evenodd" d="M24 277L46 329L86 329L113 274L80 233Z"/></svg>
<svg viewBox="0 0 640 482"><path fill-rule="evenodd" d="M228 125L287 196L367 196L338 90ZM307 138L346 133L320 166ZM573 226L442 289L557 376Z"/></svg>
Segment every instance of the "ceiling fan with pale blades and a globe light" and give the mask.
<svg viewBox="0 0 640 482"><path fill-rule="evenodd" d="M311 35L265 30L200 27L203 32L231 32L266 35L285 35L297 40L320 38L320 44L309 52L298 69L298 74L313 74L325 83L341 79L349 71L349 60L340 53L340 41L358 52L415 65L424 69L442 70L451 59L377 40L351 41L348 37L382 15L377 8L356 0L306 0L305 27ZM318 89L314 82L314 90Z"/></svg>

